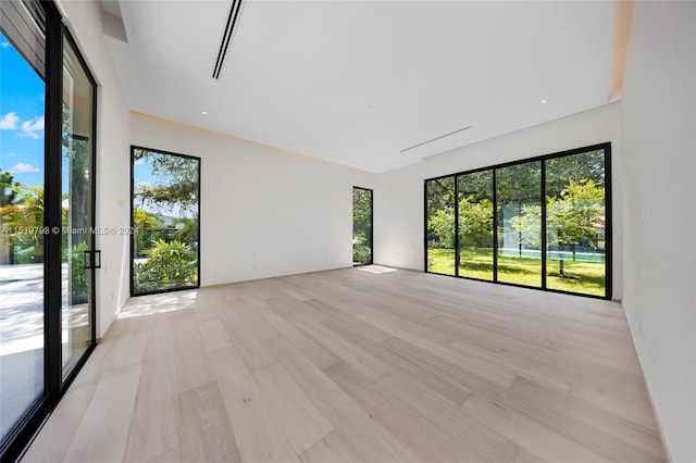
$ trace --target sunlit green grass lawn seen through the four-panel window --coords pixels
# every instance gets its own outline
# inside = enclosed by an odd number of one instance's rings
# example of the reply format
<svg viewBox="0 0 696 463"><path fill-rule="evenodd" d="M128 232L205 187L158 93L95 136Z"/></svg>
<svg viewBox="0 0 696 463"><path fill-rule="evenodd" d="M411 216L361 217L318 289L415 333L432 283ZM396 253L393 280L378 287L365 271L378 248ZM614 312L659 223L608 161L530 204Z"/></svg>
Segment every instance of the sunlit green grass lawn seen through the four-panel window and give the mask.
<svg viewBox="0 0 696 463"><path fill-rule="evenodd" d="M430 249L427 271L455 275L455 250ZM493 250L462 249L459 275L493 280ZM559 261L547 261L546 286L549 289L605 296L605 264L563 261L566 278L558 276ZM498 256L498 280L533 287L542 286L542 261L534 258Z"/></svg>

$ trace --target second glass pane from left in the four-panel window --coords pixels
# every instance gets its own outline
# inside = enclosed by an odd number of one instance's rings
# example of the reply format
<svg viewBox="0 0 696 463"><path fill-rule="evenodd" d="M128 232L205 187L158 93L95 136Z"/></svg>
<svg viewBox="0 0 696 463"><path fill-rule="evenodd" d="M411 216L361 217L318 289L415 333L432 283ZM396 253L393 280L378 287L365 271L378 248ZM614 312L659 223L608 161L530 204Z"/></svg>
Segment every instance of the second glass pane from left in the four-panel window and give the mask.
<svg viewBox="0 0 696 463"><path fill-rule="evenodd" d="M457 177L459 276L493 280L493 171Z"/></svg>

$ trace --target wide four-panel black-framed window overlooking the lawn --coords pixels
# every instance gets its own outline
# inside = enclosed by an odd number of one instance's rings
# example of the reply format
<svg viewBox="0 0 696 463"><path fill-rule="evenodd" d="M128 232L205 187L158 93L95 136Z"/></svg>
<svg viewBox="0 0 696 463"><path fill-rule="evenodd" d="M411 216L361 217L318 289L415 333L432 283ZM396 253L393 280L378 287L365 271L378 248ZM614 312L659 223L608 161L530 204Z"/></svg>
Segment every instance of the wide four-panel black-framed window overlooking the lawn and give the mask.
<svg viewBox="0 0 696 463"><path fill-rule="evenodd" d="M610 150L425 180L426 272L610 298Z"/></svg>

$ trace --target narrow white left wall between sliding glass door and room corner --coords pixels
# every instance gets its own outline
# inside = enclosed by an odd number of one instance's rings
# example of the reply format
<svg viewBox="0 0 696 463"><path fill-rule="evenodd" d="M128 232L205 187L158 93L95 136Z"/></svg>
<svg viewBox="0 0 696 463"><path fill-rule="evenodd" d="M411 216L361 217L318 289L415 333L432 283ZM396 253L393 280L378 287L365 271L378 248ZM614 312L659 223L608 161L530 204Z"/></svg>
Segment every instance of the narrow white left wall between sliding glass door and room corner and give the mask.
<svg viewBox="0 0 696 463"><path fill-rule="evenodd" d="M102 35L102 8L96 1L62 1L61 9L77 46L98 83L97 226L129 223L129 113ZM97 271L97 337L128 298L127 236L97 237L102 268Z"/></svg>

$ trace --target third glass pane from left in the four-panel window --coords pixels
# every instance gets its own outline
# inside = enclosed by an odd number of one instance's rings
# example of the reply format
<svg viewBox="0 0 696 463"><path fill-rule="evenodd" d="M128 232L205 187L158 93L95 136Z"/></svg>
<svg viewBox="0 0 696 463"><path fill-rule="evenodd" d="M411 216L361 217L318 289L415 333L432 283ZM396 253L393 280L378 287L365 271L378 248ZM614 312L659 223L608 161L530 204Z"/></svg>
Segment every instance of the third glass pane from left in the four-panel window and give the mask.
<svg viewBox="0 0 696 463"><path fill-rule="evenodd" d="M540 161L496 171L498 281L542 286Z"/></svg>

